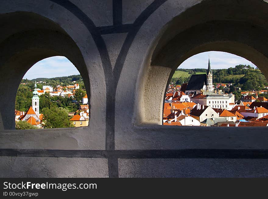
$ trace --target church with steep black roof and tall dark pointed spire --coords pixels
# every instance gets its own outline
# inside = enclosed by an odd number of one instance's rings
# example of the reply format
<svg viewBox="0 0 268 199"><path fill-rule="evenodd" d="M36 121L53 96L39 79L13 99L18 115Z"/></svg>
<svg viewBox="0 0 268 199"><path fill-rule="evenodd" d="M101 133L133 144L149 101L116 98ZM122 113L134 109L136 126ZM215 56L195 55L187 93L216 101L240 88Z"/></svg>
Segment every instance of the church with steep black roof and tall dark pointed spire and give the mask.
<svg viewBox="0 0 268 199"><path fill-rule="evenodd" d="M210 59L208 60L208 68L206 74L194 74L191 76L187 84L182 85L185 94L193 96L199 93L212 94L214 91L213 74L210 67Z"/></svg>

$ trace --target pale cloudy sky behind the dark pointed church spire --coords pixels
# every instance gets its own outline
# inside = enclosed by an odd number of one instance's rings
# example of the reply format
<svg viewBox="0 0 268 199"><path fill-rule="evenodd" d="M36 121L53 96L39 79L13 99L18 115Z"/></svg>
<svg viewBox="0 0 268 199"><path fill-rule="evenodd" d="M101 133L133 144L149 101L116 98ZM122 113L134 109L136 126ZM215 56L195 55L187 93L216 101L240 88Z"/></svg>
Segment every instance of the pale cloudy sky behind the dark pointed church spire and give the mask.
<svg viewBox="0 0 268 199"><path fill-rule="evenodd" d="M189 57L179 66L179 68L207 68L209 56L211 69L230 68L239 64L256 67L253 63L243 57L231 53L209 51Z"/></svg>

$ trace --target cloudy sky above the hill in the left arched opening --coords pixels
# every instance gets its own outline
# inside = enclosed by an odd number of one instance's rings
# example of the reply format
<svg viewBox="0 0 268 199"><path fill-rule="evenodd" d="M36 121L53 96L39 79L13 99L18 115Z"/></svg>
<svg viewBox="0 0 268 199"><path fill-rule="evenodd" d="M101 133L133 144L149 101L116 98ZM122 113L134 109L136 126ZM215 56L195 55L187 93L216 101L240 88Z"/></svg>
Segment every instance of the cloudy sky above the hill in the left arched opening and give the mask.
<svg viewBox="0 0 268 199"><path fill-rule="evenodd" d="M66 57L55 56L43 59L34 64L24 75L23 79L38 77L62 77L80 74L76 67Z"/></svg>

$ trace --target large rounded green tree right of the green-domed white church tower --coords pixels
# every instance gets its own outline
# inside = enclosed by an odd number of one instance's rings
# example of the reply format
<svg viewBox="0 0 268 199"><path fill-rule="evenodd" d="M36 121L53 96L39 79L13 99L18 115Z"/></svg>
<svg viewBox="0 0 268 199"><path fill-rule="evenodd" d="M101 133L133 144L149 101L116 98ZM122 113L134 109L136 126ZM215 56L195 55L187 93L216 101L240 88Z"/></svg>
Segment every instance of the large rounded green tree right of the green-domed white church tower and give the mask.
<svg viewBox="0 0 268 199"><path fill-rule="evenodd" d="M72 127L69 121L68 112L62 107L43 108L44 128L67 128Z"/></svg>

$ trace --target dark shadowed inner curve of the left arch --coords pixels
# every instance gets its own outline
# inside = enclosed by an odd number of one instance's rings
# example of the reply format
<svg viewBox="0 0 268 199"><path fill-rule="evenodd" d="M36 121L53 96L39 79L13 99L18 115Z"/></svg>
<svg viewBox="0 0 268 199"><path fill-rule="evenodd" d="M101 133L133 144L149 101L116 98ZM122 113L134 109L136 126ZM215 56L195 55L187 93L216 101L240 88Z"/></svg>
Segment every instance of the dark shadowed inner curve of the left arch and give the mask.
<svg viewBox="0 0 268 199"><path fill-rule="evenodd" d="M21 23L23 21L23 23ZM0 15L1 29L0 85L4 102L0 105L0 129L14 129L15 98L20 81L35 63L48 57L65 56L77 68L90 98L90 82L80 49L55 22L30 12Z"/></svg>

